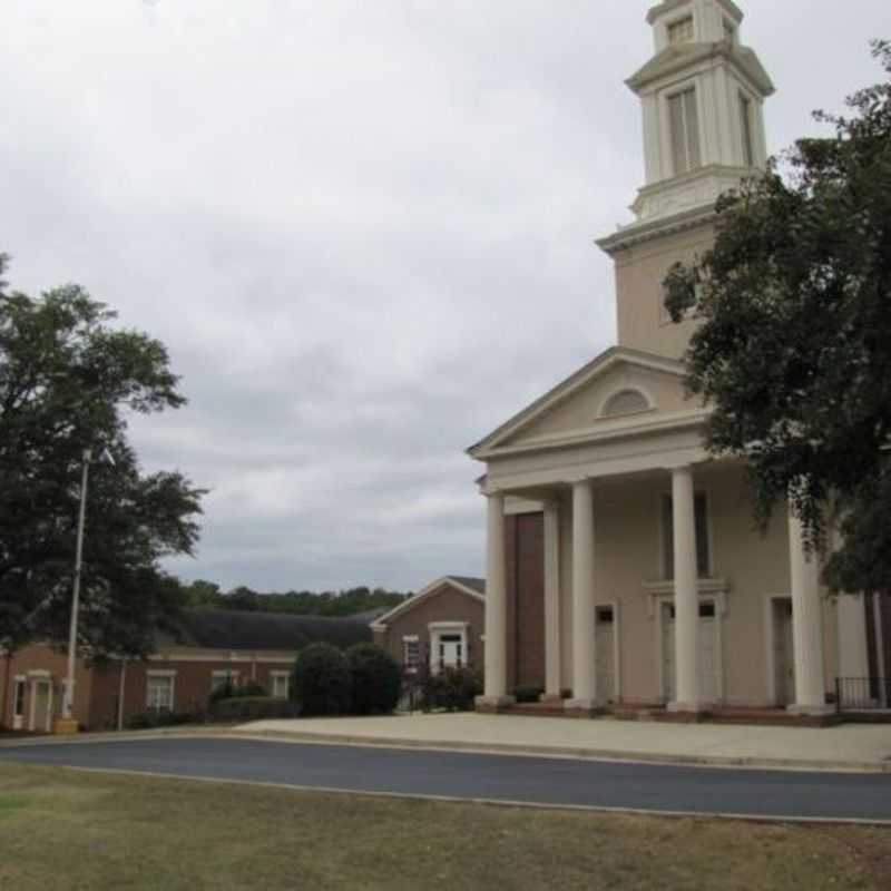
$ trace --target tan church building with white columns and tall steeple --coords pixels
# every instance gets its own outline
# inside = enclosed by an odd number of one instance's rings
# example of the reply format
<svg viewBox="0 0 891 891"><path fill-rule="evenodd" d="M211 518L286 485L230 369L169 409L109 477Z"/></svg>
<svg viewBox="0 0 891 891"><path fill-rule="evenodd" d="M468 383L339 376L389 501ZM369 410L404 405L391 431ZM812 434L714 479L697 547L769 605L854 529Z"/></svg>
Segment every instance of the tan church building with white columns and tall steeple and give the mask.
<svg viewBox="0 0 891 891"><path fill-rule="evenodd" d="M578 714L832 708L835 678L884 676L878 598L831 598L777 506L753 528L745 468L703 446L684 392L693 321L662 283L714 238L715 199L767 160L774 92L732 0L649 10L655 53L628 80L643 110L635 219L598 242L615 264L618 345L469 453L486 466L480 711L520 687Z"/></svg>

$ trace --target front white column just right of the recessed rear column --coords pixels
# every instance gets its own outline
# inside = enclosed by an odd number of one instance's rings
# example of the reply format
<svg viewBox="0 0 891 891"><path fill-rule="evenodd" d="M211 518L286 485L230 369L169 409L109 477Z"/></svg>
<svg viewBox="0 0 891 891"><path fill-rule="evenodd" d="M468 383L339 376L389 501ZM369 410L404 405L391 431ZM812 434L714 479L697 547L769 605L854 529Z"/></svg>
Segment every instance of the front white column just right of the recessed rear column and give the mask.
<svg viewBox="0 0 891 891"><path fill-rule="evenodd" d="M575 711L596 702L594 617L594 493L582 480L572 484L572 698L566 707Z"/></svg>

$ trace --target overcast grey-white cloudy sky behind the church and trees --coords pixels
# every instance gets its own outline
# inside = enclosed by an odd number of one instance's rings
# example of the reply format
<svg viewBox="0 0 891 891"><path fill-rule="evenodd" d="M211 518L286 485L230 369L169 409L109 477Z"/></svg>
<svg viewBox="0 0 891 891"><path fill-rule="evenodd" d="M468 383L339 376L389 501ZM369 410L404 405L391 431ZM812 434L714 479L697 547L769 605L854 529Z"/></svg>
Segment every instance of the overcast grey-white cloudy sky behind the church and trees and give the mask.
<svg viewBox="0 0 891 891"><path fill-rule="evenodd" d="M481 574L464 449L615 340L645 0L3 0L0 251L169 347L134 423L212 490L185 579ZM879 78L888 0L746 0L777 150Z"/></svg>

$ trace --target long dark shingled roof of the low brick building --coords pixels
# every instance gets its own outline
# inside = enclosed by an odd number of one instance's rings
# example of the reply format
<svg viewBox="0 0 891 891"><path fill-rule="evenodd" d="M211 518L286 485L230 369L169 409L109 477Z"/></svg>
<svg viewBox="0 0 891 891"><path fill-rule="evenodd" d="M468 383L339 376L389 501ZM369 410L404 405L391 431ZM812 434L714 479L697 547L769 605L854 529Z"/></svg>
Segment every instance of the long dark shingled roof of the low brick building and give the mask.
<svg viewBox="0 0 891 891"><path fill-rule="evenodd" d="M190 609L183 621L180 646L203 649L293 650L324 640L349 647L371 640L366 621L351 617L294 616L239 609Z"/></svg>

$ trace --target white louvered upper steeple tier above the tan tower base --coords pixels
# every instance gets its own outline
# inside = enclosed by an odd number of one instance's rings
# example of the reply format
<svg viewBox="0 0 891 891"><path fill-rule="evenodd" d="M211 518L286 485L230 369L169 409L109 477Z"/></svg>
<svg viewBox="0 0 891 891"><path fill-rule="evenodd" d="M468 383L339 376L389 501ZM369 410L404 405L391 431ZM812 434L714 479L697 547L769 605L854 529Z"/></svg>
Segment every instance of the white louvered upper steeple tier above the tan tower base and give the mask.
<svg viewBox="0 0 891 891"><path fill-rule="evenodd" d="M664 0L649 10L655 56L627 80L644 114L638 224L714 205L764 166L762 106L774 87L741 42L742 21L732 0Z"/></svg>

